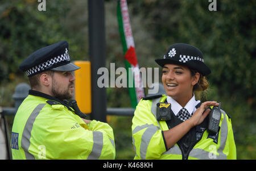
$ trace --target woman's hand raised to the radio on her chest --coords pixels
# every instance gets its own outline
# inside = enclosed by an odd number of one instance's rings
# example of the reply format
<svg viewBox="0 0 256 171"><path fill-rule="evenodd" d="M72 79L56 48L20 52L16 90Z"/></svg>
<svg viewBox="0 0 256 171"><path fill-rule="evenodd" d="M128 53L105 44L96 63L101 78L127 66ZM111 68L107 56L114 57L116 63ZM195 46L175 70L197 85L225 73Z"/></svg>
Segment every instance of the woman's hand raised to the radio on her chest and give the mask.
<svg viewBox="0 0 256 171"><path fill-rule="evenodd" d="M210 109L207 109L209 106L218 106L219 104L216 101L207 101L201 104L201 106L195 111L195 114L189 118L189 122L192 127L195 127L202 123L206 116L209 114ZM207 109L207 110L205 110Z"/></svg>

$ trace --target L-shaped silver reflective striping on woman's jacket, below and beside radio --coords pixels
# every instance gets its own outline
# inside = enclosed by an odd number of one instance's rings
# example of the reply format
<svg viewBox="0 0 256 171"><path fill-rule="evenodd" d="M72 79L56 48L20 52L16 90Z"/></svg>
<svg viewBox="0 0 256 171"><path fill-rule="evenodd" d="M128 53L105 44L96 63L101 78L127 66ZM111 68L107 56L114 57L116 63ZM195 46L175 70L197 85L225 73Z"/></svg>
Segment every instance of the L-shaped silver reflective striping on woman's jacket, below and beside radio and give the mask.
<svg viewBox="0 0 256 171"><path fill-rule="evenodd" d="M205 151L204 149L195 148L192 149L192 151L189 153L189 157L195 157L197 159L226 159L226 155L223 153L225 145L226 145L226 139L228 137L228 121L226 119L226 112L221 110L222 114L224 115L224 119L221 123L221 130L220 130L220 147L216 149L219 155L214 155L214 153ZM214 145L209 146L209 151L214 150Z"/></svg>

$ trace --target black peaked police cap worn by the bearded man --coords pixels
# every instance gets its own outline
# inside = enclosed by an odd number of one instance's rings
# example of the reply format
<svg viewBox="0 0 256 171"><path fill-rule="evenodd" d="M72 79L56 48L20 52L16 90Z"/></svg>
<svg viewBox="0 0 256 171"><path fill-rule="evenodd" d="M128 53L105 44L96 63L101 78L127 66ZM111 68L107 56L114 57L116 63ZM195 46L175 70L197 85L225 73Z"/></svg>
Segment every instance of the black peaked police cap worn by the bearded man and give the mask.
<svg viewBox="0 0 256 171"><path fill-rule="evenodd" d="M38 49L28 56L19 69L26 72L28 77L46 70L73 71L80 67L72 64L68 55L68 42L63 40L47 47Z"/></svg>

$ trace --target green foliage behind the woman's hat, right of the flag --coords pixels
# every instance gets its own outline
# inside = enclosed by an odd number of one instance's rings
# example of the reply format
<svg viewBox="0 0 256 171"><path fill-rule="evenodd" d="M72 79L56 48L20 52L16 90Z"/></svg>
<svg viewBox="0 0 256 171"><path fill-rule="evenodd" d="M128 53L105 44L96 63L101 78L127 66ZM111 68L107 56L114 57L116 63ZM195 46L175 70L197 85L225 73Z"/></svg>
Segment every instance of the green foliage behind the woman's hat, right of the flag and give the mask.
<svg viewBox="0 0 256 171"><path fill-rule="evenodd" d="M253 97L255 2L217 1L217 11L209 11L208 5L204 0L144 0L131 1L129 7L134 15L143 15L142 24L158 41L152 51L155 56L164 54L173 43L195 45L204 53L212 69L209 80L218 85L221 94Z"/></svg>

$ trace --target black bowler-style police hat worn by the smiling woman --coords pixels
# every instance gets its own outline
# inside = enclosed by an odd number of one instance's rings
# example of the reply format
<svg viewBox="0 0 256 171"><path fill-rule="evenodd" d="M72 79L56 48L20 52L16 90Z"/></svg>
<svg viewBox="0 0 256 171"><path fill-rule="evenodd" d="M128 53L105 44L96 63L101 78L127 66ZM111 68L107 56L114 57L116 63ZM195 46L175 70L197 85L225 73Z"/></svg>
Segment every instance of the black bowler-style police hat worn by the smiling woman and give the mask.
<svg viewBox="0 0 256 171"><path fill-rule="evenodd" d="M160 66L165 64L185 65L195 69L203 76L210 74L210 69L204 64L203 53L196 47L189 44L172 44L164 55L163 59L155 59Z"/></svg>

